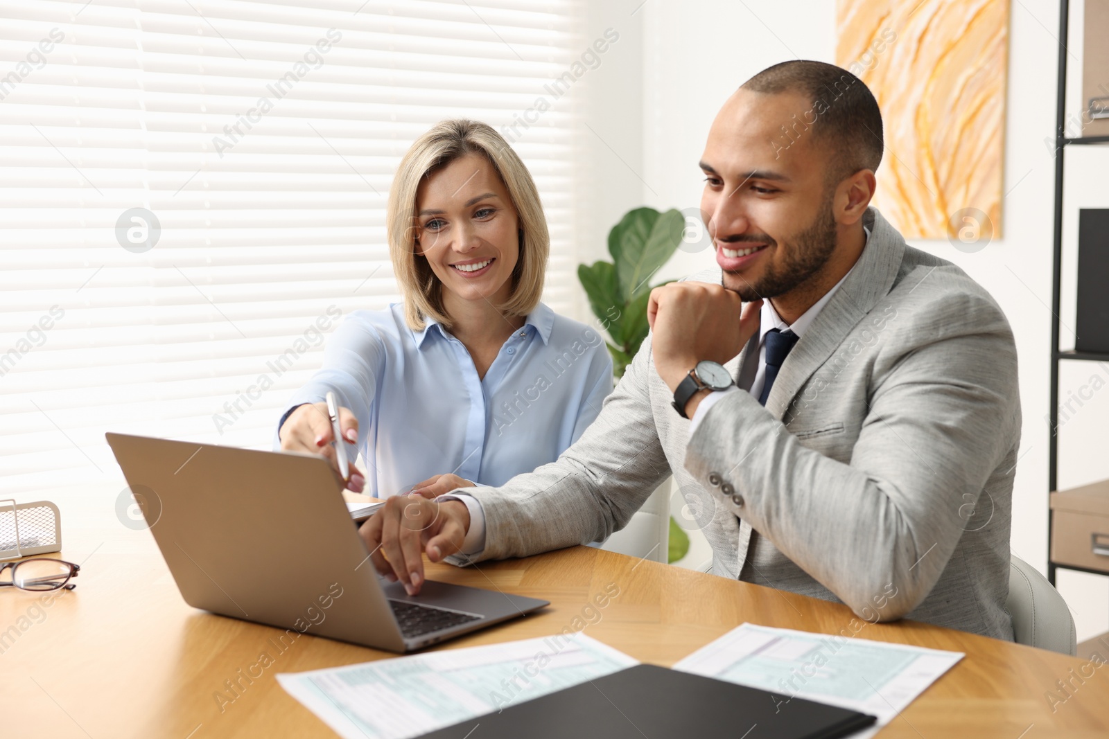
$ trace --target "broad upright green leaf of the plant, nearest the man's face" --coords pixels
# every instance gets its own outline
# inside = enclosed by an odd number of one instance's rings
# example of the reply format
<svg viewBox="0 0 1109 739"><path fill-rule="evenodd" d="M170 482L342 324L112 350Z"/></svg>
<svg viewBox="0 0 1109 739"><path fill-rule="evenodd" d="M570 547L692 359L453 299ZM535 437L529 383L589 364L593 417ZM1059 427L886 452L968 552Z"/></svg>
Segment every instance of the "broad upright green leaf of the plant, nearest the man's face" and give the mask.
<svg viewBox="0 0 1109 739"><path fill-rule="evenodd" d="M620 295L625 300L648 290L655 271L678 249L685 228L679 211L660 214L654 208L629 211L609 232L609 253L615 263Z"/></svg>

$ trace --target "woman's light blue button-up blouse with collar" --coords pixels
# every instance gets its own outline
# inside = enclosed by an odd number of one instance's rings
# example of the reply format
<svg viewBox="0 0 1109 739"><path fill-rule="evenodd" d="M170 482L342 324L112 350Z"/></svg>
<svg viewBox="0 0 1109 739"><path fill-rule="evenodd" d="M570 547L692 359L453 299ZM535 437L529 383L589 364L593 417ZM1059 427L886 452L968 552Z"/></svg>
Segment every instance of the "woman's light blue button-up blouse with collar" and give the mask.
<svg viewBox="0 0 1109 739"><path fill-rule="evenodd" d="M286 409L328 390L358 419L367 494L448 472L502 485L578 440L612 390L612 360L594 329L539 304L478 379L458 339L435 321L413 331L394 304L350 314Z"/></svg>

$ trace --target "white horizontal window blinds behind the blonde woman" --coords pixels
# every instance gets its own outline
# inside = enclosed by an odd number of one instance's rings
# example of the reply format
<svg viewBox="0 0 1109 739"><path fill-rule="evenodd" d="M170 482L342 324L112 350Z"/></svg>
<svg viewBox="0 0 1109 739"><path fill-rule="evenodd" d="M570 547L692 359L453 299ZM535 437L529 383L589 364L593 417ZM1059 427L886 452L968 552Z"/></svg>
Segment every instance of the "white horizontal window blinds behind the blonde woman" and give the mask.
<svg viewBox="0 0 1109 739"><path fill-rule="evenodd" d="M519 122L570 0L0 1L0 480L110 479L105 431L266 449L346 314L399 298L408 144ZM549 95L548 95L549 96ZM572 315L572 96L510 136Z"/></svg>

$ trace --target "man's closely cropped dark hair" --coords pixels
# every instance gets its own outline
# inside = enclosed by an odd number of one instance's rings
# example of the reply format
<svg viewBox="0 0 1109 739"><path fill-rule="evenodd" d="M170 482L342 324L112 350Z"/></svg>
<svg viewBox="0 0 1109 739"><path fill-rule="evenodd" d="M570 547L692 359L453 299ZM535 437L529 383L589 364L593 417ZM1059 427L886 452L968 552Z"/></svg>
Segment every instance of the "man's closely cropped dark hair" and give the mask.
<svg viewBox="0 0 1109 739"><path fill-rule="evenodd" d="M767 66L743 83L743 90L776 94L796 92L811 103L806 124L830 145L832 182L882 162L882 111L866 84L835 64L795 60ZM812 120L815 117L815 122Z"/></svg>

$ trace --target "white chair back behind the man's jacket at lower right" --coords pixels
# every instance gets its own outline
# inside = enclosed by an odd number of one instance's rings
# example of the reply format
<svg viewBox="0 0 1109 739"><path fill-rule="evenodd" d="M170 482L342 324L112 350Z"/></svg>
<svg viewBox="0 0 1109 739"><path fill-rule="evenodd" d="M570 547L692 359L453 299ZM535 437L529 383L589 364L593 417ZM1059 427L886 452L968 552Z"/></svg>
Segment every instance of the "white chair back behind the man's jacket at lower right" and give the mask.
<svg viewBox="0 0 1109 739"><path fill-rule="evenodd" d="M1016 554L1009 561L1009 597L1017 644L1075 655L1075 619L1059 592L1035 567Z"/></svg>

